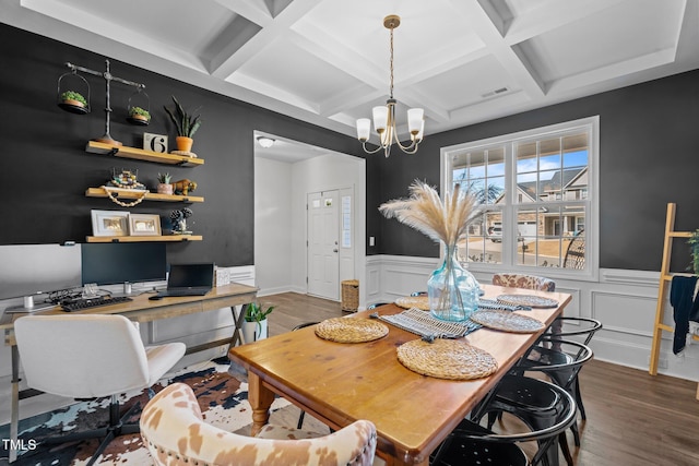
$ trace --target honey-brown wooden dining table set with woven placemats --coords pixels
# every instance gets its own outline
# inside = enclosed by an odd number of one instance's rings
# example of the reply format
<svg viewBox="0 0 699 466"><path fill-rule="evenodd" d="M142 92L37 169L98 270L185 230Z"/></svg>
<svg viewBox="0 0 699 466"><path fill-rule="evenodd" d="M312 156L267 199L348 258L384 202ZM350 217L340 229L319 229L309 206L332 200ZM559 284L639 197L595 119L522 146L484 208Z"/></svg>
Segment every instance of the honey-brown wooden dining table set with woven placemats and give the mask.
<svg viewBox="0 0 699 466"><path fill-rule="evenodd" d="M549 325L571 297L484 285L486 298L500 294L540 295L558 301L557 308L518 311ZM398 313L394 304L380 314ZM364 311L346 319L367 318ZM318 338L313 327L288 332L250 345L230 348L228 356L248 369L248 399L252 433L269 420L277 394L333 429L357 419L371 420L378 431L377 453L389 465L427 465L429 454L507 373L540 336L478 330L466 340L490 353L498 371L474 381L423 377L403 367L395 348L416 335L387 324L389 334L375 342L340 344Z"/></svg>

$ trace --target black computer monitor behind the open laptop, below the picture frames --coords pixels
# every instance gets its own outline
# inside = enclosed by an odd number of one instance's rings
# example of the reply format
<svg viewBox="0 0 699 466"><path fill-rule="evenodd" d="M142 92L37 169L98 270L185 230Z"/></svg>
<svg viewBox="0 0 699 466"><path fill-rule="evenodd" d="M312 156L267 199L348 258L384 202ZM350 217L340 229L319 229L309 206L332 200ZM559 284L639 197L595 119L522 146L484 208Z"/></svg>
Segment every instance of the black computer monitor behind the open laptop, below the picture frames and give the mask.
<svg viewBox="0 0 699 466"><path fill-rule="evenodd" d="M167 276L163 242L82 244L82 283L115 285L157 282Z"/></svg>

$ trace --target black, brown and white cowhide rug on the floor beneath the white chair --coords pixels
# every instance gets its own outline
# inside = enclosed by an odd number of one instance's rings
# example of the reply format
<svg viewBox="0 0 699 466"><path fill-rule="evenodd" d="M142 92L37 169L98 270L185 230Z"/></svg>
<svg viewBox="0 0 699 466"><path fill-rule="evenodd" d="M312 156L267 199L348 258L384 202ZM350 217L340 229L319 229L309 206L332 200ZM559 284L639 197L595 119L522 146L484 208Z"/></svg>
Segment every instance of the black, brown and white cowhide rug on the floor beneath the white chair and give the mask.
<svg viewBox="0 0 699 466"><path fill-rule="evenodd" d="M252 414L248 403L247 384L230 377L227 370L228 365L212 363L212 367L208 369L183 373L166 382L157 383L153 386L153 391L157 393L173 382L190 385L197 394L206 422L235 432L251 423ZM128 399L120 399L122 413L139 403L140 408L137 408L132 419L132 421L138 421L141 409L149 399L147 391L135 394ZM277 398L272 405L272 410L288 405L288 402ZM99 428L105 426L109 418L108 407L109 398L97 398L57 409L51 411L49 416L37 416L38 425L33 423L32 419L22 421L20 439L24 441L25 445L29 445L45 437L60 435L61 432L80 432ZM0 427L0 431L9 433L9 426ZM9 438L4 434L2 437ZM85 465L97 450L99 442L100 439L94 439L72 443L39 444L34 450L24 451L13 465ZM7 458L8 452L0 452L0 457L2 456ZM127 434L112 440L95 464L151 466L153 462L147 449L141 443L140 435Z"/></svg>

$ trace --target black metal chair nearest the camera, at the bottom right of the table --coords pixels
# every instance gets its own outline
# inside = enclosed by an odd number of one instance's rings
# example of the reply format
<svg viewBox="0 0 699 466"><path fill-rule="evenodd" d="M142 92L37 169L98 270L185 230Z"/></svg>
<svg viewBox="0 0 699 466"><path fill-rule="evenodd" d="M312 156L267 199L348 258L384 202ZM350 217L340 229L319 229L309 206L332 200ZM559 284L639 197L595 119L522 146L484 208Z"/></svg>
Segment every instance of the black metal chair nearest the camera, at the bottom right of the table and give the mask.
<svg viewBox="0 0 699 466"><path fill-rule="evenodd" d="M447 437L430 458L430 465L498 465L525 466L543 463L549 465L558 455L556 439L576 420L576 402L564 389L537 379L506 375L503 382L520 385L540 402L540 416L528 432L496 433L473 420L464 419ZM481 416L496 405L482 406ZM536 453L528 458L518 445L521 442L537 442ZM556 462L553 462L556 464Z"/></svg>

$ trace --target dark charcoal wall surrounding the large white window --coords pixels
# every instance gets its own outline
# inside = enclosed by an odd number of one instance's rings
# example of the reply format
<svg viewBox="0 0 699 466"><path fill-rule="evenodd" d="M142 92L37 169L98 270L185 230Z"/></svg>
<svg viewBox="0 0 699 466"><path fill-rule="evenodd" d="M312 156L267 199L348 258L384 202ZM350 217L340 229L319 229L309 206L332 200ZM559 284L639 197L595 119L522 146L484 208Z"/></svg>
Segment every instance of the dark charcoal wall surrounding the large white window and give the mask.
<svg viewBox="0 0 699 466"><path fill-rule="evenodd" d="M399 96L400 97L400 96ZM659 271L665 212L677 203L677 230L699 228L699 71L438 134L415 155L396 152L367 162L369 254L437 256L436 244L384 219L382 202L405 196L416 178L439 186L440 147L600 116L600 266ZM429 129L429 128L428 128ZM374 187L371 189L371 187ZM675 240L673 266L689 263Z"/></svg>

